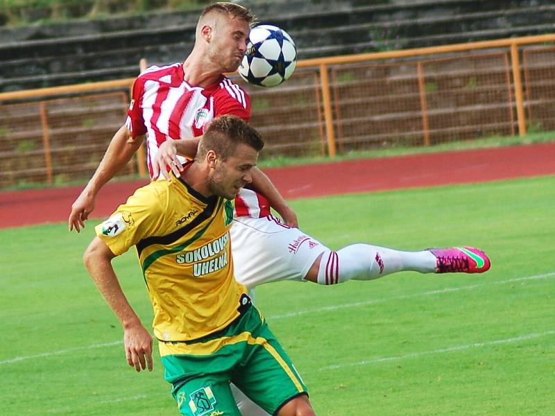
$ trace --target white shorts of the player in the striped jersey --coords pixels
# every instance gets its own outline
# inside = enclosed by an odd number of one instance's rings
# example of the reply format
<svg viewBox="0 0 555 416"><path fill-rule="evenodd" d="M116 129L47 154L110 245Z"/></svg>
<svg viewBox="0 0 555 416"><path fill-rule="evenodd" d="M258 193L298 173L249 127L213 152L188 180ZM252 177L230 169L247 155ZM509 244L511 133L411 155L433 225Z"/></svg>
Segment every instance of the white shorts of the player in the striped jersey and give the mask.
<svg viewBox="0 0 555 416"><path fill-rule="evenodd" d="M304 281L325 245L274 216L237 217L230 231L235 278L247 288L278 280Z"/></svg>

